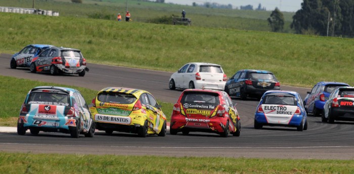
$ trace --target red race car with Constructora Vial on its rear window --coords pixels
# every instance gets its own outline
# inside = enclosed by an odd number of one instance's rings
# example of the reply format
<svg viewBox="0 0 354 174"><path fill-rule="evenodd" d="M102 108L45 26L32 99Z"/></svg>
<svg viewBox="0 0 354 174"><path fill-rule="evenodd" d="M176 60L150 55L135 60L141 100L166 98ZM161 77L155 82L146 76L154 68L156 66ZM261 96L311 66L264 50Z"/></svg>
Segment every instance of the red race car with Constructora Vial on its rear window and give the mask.
<svg viewBox="0 0 354 174"><path fill-rule="evenodd" d="M236 106L224 91L186 89L173 105L170 134L210 132L240 136L241 122Z"/></svg>

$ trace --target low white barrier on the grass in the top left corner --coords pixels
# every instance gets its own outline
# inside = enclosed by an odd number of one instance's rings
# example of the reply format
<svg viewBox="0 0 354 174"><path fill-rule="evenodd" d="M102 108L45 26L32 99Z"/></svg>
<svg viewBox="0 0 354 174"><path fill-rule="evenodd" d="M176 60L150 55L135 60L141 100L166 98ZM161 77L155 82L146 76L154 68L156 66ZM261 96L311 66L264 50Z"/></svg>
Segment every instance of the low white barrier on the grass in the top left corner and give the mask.
<svg viewBox="0 0 354 174"><path fill-rule="evenodd" d="M37 15L47 15L47 16L59 16L59 12L53 12L51 10L24 9L24 8L17 8L17 7L0 7L0 12L19 13L19 14L37 14Z"/></svg>

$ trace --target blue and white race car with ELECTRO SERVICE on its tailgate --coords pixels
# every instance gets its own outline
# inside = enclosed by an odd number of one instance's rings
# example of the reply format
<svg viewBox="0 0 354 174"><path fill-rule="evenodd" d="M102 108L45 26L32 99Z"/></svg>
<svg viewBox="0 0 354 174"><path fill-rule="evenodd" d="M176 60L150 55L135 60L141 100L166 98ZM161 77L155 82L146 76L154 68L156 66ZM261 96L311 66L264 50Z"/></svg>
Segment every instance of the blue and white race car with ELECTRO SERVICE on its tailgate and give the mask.
<svg viewBox="0 0 354 174"><path fill-rule="evenodd" d="M307 130L307 115L300 95L294 91L271 90L263 94L254 114L254 129L263 126L296 127Z"/></svg>

